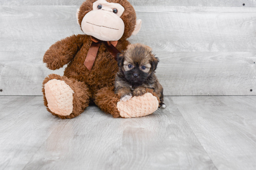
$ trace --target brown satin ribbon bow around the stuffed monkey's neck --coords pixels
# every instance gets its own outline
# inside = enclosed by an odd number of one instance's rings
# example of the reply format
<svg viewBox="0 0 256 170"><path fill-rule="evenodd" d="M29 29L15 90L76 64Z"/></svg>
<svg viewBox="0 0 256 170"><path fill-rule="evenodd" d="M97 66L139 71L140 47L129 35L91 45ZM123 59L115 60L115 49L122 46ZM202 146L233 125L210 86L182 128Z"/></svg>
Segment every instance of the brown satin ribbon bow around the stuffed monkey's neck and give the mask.
<svg viewBox="0 0 256 170"><path fill-rule="evenodd" d="M91 71L92 65L95 61L101 42L105 44L109 53L113 56L115 60L117 60L116 55L120 53L120 51L115 47L117 46L118 41L101 41L96 39L93 36L91 36L91 40L92 40L92 44L88 50L87 56L84 61L84 65L86 68L88 68L89 71Z"/></svg>

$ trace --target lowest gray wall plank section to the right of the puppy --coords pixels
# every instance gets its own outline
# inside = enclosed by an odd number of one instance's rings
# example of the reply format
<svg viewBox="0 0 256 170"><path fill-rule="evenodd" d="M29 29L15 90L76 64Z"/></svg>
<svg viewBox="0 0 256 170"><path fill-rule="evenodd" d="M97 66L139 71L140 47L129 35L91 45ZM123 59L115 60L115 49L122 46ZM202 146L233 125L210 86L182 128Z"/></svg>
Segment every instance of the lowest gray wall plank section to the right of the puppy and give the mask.
<svg viewBox="0 0 256 170"><path fill-rule="evenodd" d="M156 56L164 95L256 95L256 53L158 52Z"/></svg>

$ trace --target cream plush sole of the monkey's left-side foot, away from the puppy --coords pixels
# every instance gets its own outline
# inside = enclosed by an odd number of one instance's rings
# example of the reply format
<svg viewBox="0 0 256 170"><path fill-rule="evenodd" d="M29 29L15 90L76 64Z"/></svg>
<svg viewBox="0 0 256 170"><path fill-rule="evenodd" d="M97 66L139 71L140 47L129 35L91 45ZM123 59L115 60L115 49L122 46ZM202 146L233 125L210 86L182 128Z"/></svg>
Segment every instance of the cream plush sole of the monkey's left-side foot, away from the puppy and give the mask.
<svg viewBox="0 0 256 170"><path fill-rule="evenodd" d="M68 116L73 111L73 93L63 80L52 79L44 85L48 108L55 114Z"/></svg>

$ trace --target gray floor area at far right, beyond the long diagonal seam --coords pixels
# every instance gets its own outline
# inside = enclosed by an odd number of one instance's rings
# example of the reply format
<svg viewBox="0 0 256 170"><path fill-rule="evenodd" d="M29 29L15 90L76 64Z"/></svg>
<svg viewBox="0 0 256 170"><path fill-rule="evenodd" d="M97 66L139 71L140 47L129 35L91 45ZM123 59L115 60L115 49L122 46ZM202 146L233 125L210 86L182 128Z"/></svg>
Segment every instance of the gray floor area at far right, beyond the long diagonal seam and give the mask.
<svg viewBox="0 0 256 170"><path fill-rule="evenodd" d="M255 96L171 99L219 170L255 169Z"/></svg>

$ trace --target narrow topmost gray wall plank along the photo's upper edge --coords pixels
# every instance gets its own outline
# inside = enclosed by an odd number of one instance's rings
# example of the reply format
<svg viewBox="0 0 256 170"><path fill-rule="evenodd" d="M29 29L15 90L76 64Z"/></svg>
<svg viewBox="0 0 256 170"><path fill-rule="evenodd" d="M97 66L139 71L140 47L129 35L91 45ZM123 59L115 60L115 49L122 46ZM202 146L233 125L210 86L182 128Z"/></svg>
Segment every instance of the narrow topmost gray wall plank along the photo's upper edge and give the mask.
<svg viewBox="0 0 256 170"><path fill-rule="evenodd" d="M1 0L0 5L81 5L84 0ZM128 0L132 5L162 6L205 6L205 7L256 7L255 0Z"/></svg>

